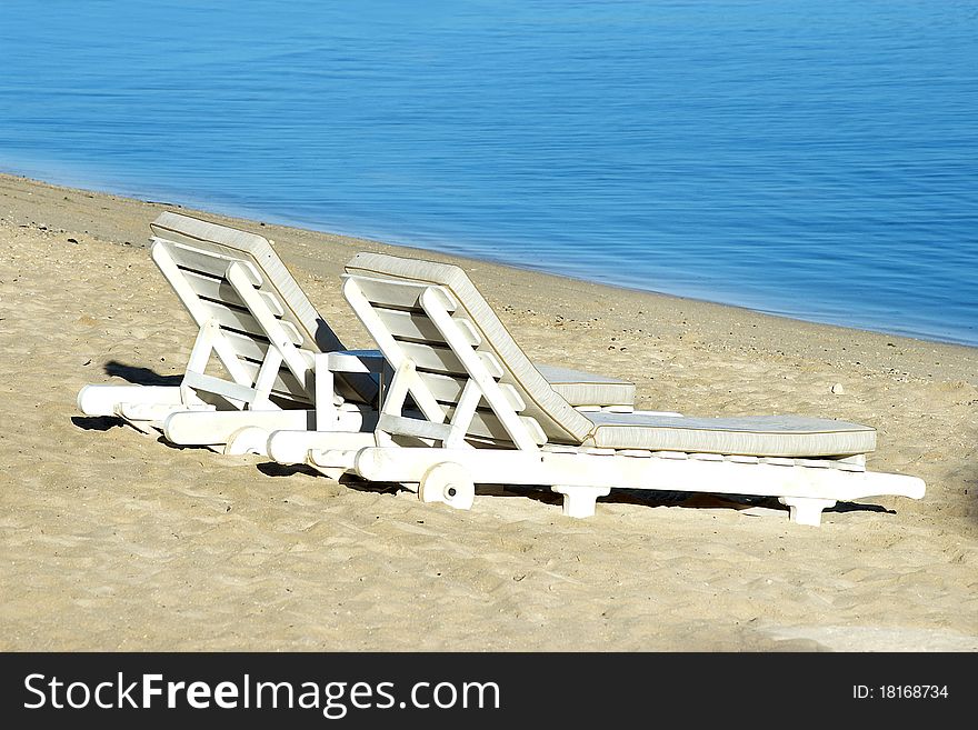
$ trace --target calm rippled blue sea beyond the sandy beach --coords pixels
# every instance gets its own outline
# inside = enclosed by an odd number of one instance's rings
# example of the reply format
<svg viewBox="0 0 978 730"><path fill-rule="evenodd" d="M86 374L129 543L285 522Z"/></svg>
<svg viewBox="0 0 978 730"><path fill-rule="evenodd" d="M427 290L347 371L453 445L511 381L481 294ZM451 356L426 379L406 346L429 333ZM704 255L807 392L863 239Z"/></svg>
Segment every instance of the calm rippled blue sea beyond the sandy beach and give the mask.
<svg viewBox="0 0 978 730"><path fill-rule="evenodd" d="M0 0L0 58L7 172L978 346L978 2Z"/></svg>

